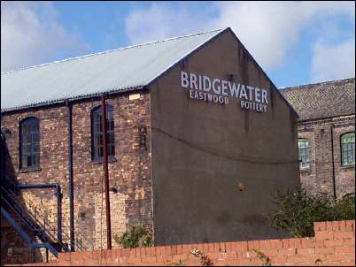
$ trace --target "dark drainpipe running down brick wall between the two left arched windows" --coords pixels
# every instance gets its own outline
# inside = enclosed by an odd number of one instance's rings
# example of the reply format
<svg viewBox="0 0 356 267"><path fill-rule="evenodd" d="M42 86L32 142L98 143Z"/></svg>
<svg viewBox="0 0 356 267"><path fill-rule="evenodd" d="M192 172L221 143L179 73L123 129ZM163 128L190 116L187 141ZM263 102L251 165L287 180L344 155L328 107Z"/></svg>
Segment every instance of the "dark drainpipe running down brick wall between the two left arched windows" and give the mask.
<svg viewBox="0 0 356 267"><path fill-rule="evenodd" d="M71 251L74 251L74 182L73 182L73 141L72 141L72 104L66 101L68 110L68 195L69 195L69 236Z"/></svg>

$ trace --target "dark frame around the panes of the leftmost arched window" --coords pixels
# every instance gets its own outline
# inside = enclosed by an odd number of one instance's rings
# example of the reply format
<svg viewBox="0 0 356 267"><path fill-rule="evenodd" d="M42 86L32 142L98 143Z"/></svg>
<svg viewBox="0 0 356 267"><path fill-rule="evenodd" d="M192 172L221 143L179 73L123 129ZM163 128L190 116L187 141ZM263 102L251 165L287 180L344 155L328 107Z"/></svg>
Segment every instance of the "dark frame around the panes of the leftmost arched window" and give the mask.
<svg viewBox="0 0 356 267"><path fill-rule="evenodd" d="M23 152L23 146L22 146L22 141L23 141L23 134L22 134L22 129L23 126L25 125L25 123L29 120L35 120L36 124L37 124L37 136L38 136L38 152L36 152L35 154L37 154L37 163L33 164L31 166L23 166L23 160L22 160L22 156L24 155ZM34 156L32 154L33 152L33 142L31 142L31 154L30 156ZM40 119L36 118L34 116L31 117L27 117L27 118L23 118L19 121L19 172L27 172L27 171L38 171L41 170L41 133L40 133Z"/></svg>

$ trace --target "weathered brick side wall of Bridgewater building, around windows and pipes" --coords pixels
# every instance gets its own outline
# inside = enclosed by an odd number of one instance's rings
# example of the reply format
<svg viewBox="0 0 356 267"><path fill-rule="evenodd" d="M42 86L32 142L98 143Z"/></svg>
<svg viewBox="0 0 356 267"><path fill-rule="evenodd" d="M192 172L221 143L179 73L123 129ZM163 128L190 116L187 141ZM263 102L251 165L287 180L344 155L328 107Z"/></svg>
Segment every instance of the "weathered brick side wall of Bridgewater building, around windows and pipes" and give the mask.
<svg viewBox="0 0 356 267"><path fill-rule="evenodd" d="M131 99L129 95L116 95L107 97L107 103L113 107L115 124L115 156L109 163L113 237L123 233L129 225L142 224L152 228L150 95L141 92L139 97ZM74 235L78 240L82 238L86 247L94 245L96 248L106 246L103 165L91 160L90 111L99 105L99 98L74 103L72 126ZM63 239L69 242L67 114L66 106L2 113L1 124L11 132L6 134L9 156L6 172L23 184L60 185ZM19 122L27 117L40 120L40 169L33 172L19 170ZM147 129L145 147L139 146L139 126ZM51 188L27 189L22 195L27 200L24 201L27 209L43 210L48 223L56 229L57 199L54 193ZM4 231L2 228L2 233ZM113 239L112 242L113 247L117 247ZM7 251L11 247L26 246L24 242L17 242L15 246L2 239L2 251L3 248Z"/></svg>

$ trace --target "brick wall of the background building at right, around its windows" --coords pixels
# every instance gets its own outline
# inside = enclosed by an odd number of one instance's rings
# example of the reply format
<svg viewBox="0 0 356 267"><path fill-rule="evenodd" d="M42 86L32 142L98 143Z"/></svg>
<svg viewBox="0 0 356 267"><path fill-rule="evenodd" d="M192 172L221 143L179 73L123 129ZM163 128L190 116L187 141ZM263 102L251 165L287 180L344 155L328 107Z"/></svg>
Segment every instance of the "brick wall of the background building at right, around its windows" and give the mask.
<svg viewBox="0 0 356 267"><path fill-rule="evenodd" d="M355 167L341 164L340 149L340 136L354 132L354 125L354 115L298 123L298 138L306 138L310 148L310 168L300 171L301 184L307 191L334 194L334 163L337 197L355 192Z"/></svg>

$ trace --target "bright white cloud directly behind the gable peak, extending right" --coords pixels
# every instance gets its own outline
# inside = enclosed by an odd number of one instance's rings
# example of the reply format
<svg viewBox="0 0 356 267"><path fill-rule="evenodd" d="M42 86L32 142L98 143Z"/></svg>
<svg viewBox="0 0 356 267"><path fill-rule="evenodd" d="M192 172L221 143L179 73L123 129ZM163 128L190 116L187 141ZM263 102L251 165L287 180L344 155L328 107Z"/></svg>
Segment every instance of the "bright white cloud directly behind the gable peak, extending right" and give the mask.
<svg viewBox="0 0 356 267"><path fill-rule="evenodd" d="M306 27L337 14L354 18L351 2L228 2L218 7L217 27L231 27L265 69L282 65Z"/></svg>

